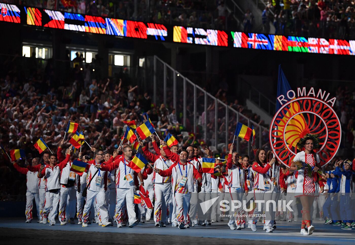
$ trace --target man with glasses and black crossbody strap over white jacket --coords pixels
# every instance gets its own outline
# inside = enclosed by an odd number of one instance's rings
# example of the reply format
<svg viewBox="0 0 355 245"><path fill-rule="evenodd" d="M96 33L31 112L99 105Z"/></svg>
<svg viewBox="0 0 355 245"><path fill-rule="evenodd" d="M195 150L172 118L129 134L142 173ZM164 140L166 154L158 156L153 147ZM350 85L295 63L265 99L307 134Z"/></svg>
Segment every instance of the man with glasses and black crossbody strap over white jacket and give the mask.
<svg viewBox="0 0 355 245"><path fill-rule="evenodd" d="M95 166L104 165L102 163L104 160L104 152L102 150L95 150L95 159L88 161L86 165L85 172L87 172L87 182L91 181L86 195L86 203L83 210L82 217L82 227L88 226L89 214L92 207L92 204L95 202L98 204L100 212L100 220L102 222L102 227L108 227L111 222L108 221L108 211L106 205L106 190L107 190L107 172L102 170L97 170Z"/></svg>

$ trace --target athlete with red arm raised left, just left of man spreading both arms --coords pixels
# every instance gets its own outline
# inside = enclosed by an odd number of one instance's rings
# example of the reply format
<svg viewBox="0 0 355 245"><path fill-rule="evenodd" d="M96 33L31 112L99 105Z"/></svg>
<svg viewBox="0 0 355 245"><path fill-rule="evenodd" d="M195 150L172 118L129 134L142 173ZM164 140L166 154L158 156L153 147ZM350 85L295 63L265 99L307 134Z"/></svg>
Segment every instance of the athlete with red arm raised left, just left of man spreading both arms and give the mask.
<svg viewBox="0 0 355 245"><path fill-rule="evenodd" d="M143 146L143 143L139 143L142 147L144 155L147 156L147 159L151 161L154 167L166 170L173 164L173 161L169 160L166 157L166 153L162 148L160 148L160 156L154 155L148 151L146 147ZM168 150L170 152L170 150ZM151 170L153 171L153 170ZM150 173L150 172L149 172ZM154 183L154 217L155 217L155 226L165 227L168 224L168 204L169 199L171 198L171 176L160 176L158 173L154 172L152 177L152 182Z"/></svg>

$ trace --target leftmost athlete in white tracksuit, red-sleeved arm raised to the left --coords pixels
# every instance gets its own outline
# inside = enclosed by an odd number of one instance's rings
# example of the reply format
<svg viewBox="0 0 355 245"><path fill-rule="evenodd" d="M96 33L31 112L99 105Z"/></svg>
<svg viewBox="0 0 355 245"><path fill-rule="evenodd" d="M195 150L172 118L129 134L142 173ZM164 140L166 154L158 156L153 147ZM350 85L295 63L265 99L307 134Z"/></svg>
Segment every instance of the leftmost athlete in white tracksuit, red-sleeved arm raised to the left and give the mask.
<svg viewBox="0 0 355 245"><path fill-rule="evenodd" d="M36 166L39 164L39 158L33 158L32 159L32 166ZM37 207L37 218L38 221L37 223L40 223L42 220L42 217L40 215L40 203L39 203L39 195L38 195L38 183L39 183L39 178L37 177L38 172L31 172L27 169L27 167L20 167L17 165L17 163L13 162L13 167L20 172L21 174L26 175L26 223L31 223L31 220L33 219L32 216L32 207L33 207L33 199L36 203Z"/></svg>

